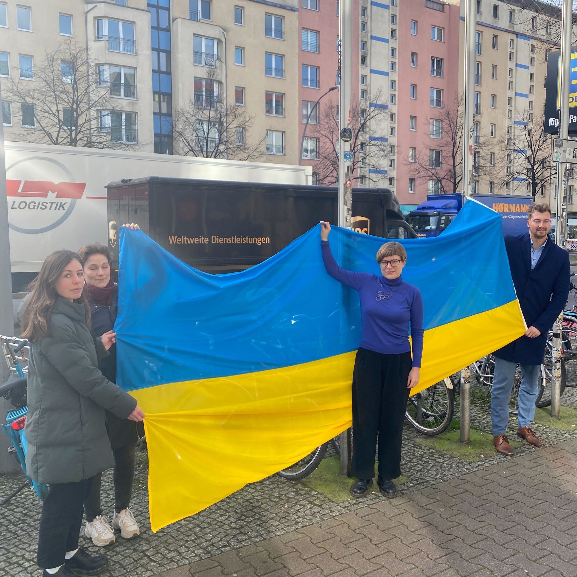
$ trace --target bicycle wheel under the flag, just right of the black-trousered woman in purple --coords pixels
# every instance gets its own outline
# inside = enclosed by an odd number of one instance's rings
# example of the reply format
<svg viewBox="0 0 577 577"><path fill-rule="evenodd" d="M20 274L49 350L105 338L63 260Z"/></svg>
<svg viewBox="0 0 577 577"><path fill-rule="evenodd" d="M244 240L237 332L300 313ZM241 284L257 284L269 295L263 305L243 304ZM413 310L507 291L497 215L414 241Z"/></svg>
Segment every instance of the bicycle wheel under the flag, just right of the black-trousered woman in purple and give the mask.
<svg viewBox="0 0 577 577"><path fill-rule="evenodd" d="M456 379L451 376L410 396L405 417L411 426L429 436L446 430L455 411L455 385Z"/></svg>

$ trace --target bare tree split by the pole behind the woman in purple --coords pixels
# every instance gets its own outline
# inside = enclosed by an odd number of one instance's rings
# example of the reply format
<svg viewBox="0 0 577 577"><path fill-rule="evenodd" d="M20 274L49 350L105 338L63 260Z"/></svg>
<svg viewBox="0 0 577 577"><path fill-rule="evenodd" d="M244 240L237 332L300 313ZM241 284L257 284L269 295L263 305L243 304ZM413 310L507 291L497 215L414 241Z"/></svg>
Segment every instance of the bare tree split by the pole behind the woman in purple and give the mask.
<svg viewBox="0 0 577 577"><path fill-rule="evenodd" d="M339 181L339 108L338 100L329 100L323 108L320 123L312 131L318 139L319 162L313 170L319 174L320 185L334 185ZM355 101L351 104L349 126L353 131L349 150L353 152L351 174L353 182L359 177L373 185L378 185L386 177L388 156L391 146L388 144L387 119L388 106L377 92L366 96L366 102ZM309 125L312 126L312 125ZM370 133L373 134L369 138Z"/></svg>

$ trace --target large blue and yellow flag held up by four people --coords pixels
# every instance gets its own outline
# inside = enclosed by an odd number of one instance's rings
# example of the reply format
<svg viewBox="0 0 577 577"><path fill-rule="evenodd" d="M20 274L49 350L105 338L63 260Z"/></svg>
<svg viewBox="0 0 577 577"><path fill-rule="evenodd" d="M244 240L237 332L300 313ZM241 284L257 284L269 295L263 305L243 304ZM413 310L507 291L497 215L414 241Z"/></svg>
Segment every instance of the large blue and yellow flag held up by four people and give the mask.
<svg viewBox="0 0 577 577"><path fill-rule="evenodd" d="M343 267L380 274L383 238L333 228ZM421 383L522 335L501 218L469 201L439 237L402 240L422 292ZM121 230L118 383L147 414L152 530L284 469L351 425L358 294L323 265L320 226L246 271L210 275Z"/></svg>

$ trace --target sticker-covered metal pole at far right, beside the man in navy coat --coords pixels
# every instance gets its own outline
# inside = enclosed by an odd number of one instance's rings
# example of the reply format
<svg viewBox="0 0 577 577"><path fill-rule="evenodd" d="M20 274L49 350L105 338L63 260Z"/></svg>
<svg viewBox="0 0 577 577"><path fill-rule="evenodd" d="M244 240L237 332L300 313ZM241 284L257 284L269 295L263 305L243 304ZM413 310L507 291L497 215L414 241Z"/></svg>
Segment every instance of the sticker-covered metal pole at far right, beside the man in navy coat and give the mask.
<svg viewBox="0 0 577 577"><path fill-rule="evenodd" d="M573 27L573 6L571 0L563 0L561 13L561 111L559 114L559 136L569 137L569 83L571 82L571 39ZM557 165L557 208L555 242L564 248L565 224L567 223L567 193L563 177L567 164ZM561 346L563 311L553 326L553 376L551 383L551 416L561 416Z"/></svg>

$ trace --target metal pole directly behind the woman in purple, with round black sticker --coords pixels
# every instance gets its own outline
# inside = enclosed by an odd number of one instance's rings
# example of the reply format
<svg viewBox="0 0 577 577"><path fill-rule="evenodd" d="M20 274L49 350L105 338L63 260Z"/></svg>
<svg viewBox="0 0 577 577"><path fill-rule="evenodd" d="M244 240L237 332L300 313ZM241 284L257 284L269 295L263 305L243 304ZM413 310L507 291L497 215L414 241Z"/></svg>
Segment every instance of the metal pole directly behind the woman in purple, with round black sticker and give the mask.
<svg viewBox="0 0 577 577"><path fill-rule="evenodd" d="M339 81L339 226L351 228L351 187L345 186L350 179L350 166L344 164L344 151L349 143L340 140L340 131L349 125L351 95L353 93L353 0L340 0L340 81ZM348 477L351 471L351 430L340 434L340 474Z"/></svg>

